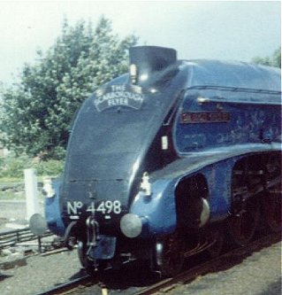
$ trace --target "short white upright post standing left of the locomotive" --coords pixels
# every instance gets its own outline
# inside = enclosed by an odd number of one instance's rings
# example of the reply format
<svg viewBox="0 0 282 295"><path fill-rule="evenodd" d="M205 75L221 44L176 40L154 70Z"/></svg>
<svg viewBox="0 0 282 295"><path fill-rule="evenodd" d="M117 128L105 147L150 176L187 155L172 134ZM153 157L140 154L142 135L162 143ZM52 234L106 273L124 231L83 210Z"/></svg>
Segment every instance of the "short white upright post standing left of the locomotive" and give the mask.
<svg viewBox="0 0 282 295"><path fill-rule="evenodd" d="M34 213L39 213L39 202L37 195L37 176L35 169L25 169L25 188L27 221Z"/></svg>

